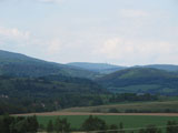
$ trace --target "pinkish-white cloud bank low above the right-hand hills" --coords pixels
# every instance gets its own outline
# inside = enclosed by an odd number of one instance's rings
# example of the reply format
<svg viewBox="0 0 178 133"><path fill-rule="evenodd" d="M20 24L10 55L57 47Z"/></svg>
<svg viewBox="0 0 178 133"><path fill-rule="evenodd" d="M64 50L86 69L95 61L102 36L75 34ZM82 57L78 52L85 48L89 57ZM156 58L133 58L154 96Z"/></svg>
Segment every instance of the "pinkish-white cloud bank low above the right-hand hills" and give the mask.
<svg viewBox="0 0 178 133"><path fill-rule="evenodd" d="M162 41L144 42L121 38L108 39L95 48L95 54L125 64L170 62L178 53L178 44ZM169 60L167 60L169 59ZM172 60L172 63L175 60Z"/></svg>

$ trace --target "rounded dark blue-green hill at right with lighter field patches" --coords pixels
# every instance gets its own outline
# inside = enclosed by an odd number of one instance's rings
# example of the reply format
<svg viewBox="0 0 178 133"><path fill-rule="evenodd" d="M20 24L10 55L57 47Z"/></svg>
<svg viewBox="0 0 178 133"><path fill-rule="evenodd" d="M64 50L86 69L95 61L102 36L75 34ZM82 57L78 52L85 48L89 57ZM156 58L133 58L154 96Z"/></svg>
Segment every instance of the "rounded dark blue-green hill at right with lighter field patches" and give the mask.
<svg viewBox="0 0 178 133"><path fill-rule="evenodd" d="M178 94L178 74L157 69L134 68L96 80L112 92Z"/></svg>

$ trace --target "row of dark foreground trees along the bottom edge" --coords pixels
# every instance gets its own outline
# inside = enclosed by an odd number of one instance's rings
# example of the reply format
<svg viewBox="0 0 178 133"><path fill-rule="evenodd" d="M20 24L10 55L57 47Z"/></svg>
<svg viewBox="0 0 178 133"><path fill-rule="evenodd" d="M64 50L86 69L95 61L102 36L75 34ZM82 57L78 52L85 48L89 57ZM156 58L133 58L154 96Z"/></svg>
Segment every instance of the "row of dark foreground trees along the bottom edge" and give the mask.
<svg viewBox="0 0 178 133"><path fill-rule="evenodd" d="M47 133L69 133L72 132L70 123L67 119L57 117L55 121L49 120L47 126L40 125L37 116L0 116L0 133L37 133L46 131ZM90 115L83 121L80 129L82 132L98 132L98 133L162 133L160 127L156 125L148 125L147 127L136 129L132 131L125 129L123 123L107 124L106 121ZM165 133L165 132L164 132ZM166 133L178 133L178 123L176 121L168 121Z"/></svg>

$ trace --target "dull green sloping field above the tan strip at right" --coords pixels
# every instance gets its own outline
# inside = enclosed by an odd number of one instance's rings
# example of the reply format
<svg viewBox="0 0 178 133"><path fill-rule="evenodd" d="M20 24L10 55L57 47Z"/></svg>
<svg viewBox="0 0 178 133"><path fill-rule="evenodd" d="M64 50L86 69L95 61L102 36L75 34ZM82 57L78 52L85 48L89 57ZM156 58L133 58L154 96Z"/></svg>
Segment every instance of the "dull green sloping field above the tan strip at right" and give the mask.
<svg viewBox="0 0 178 133"><path fill-rule="evenodd" d="M127 110L165 112L166 110L178 112L178 101L164 102L139 102L139 103L120 103L111 105L99 105L88 108L71 108L62 110L62 112L108 112L110 109L117 109L119 112Z"/></svg>

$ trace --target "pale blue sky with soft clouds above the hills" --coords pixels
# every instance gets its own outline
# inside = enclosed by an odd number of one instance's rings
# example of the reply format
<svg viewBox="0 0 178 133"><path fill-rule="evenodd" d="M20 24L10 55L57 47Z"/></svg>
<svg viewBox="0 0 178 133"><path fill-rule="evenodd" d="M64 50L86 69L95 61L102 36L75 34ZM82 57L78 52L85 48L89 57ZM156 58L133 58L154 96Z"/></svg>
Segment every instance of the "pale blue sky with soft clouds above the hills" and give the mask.
<svg viewBox="0 0 178 133"><path fill-rule="evenodd" d="M58 63L178 64L178 1L0 0L0 50Z"/></svg>

